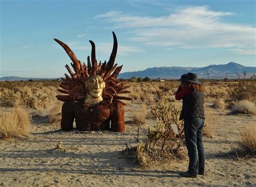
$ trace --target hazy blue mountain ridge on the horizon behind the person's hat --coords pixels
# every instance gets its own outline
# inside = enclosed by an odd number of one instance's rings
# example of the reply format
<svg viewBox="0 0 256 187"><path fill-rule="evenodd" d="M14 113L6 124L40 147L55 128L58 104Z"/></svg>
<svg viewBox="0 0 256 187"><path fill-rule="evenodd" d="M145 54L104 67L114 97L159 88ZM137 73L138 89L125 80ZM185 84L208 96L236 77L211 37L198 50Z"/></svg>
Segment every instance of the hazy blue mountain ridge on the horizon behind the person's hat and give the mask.
<svg viewBox="0 0 256 187"><path fill-rule="evenodd" d="M132 71L119 74L119 78L130 78L130 77L151 77L151 78L179 78L180 75L183 75L188 72L193 72L198 74L199 78L236 78L237 73L241 76L246 71L247 78L256 74L255 67L246 67L242 66L239 63L230 62L227 64L220 65L210 65L207 67L197 68L197 67L154 67L147 68L143 71ZM209 75L208 75L209 74Z"/></svg>

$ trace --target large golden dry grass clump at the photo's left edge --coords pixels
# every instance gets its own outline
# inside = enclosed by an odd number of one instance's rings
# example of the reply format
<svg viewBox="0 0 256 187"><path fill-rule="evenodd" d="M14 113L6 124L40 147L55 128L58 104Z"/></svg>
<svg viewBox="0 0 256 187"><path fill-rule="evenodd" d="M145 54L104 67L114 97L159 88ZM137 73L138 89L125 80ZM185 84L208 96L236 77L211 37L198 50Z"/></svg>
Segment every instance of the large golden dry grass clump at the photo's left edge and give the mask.
<svg viewBox="0 0 256 187"><path fill-rule="evenodd" d="M0 116L0 137L11 139L28 134L31 117L22 107L15 107Z"/></svg>

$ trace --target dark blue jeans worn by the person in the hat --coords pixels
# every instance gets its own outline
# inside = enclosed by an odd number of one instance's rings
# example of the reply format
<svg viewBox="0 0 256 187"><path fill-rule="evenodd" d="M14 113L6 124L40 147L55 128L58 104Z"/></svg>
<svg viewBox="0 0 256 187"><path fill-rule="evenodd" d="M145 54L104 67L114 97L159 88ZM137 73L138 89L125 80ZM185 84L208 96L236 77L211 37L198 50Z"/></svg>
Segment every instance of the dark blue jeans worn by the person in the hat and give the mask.
<svg viewBox="0 0 256 187"><path fill-rule="evenodd" d="M203 118L188 118L184 120L185 141L190 163L188 172L198 174L205 170L205 149L203 143Z"/></svg>

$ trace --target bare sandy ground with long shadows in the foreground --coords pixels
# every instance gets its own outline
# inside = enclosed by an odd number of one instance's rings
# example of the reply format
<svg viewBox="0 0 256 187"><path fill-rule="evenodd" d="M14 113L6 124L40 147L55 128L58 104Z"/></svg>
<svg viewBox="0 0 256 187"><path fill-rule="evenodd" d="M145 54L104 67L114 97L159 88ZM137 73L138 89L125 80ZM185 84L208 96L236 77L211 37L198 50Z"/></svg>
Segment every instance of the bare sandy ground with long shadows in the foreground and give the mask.
<svg viewBox="0 0 256 187"><path fill-rule="evenodd" d="M206 175L182 178L186 162L139 168L124 157L126 143L136 145L138 125L132 112L137 103L126 106L126 132L63 132L50 125L46 113L32 118L31 134L19 140L0 140L0 186L226 186L256 185L256 159L238 160L228 154L237 145L239 130L255 124L255 116L231 116L212 110L219 118L213 138L205 138ZM6 110L4 108L1 111ZM37 113L30 110L33 115ZM224 113L224 114L223 114ZM147 120L140 127L145 137ZM56 149L58 142L63 149ZM65 149L65 150L64 150Z"/></svg>

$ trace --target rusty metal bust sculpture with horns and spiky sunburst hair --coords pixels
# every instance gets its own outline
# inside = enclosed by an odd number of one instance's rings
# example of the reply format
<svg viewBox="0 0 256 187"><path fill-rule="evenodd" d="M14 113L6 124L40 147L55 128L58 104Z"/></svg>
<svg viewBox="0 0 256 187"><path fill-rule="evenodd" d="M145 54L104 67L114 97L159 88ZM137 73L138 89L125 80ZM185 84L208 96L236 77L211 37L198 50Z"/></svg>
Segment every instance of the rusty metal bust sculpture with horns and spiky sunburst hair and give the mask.
<svg viewBox="0 0 256 187"><path fill-rule="evenodd" d="M66 65L69 74L61 78L58 89L65 95L56 96L64 102L62 106L62 130L72 130L73 121L76 121L77 130L80 131L114 131L124 132L124 106L121 100L131 100L129 97L120 96L120 93L130 93L125 89L127 81L117 79L123 66L114 64L117 55L117 38L113 32L113 49L108 62L96 60L95 44L89 40L92 46L91 61L87 57L87 66L81 63L69 46L58 39L54 39L64 48L73 63L71 68ZM111 122L111 123L110 123Z"/></svg>

